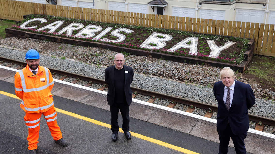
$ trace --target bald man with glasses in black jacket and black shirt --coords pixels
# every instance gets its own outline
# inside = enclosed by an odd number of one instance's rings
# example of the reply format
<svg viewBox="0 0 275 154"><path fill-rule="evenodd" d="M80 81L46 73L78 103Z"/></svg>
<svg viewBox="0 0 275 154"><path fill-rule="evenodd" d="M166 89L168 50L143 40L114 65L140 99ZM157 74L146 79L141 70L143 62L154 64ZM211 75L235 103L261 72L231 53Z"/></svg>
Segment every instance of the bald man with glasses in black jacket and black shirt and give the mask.
<svg viewBox="0 0 275 154"><path fill-rule="evenodd" d="M111 124L112 124L112 140L117 140L117 133L119 132L119 124L117 123L117 116L119 110L122 115L122 130L127 139L131 138L129 132L129 106L132 102L132 91L130 84L133 81L133 69L130 66L125 66L124 55L117 53L114 57L114 66L107 67L105 70L105 82L108 84L107 101L111 110Z"/></svg>

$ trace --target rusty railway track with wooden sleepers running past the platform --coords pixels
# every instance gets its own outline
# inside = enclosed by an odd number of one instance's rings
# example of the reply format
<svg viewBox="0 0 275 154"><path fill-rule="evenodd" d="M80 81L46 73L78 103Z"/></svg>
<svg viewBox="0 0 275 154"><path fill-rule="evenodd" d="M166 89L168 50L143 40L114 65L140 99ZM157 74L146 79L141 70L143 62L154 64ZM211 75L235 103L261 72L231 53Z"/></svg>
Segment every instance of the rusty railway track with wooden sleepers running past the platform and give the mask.
<svg viewBox="0 0 275 154"><path fill-rule="evenodd" d="M6 67L10 67L11 65L14 65L14 64L20 65L20 67L17 67L16 69L21 69L27 65L26 62L21 62L21 61L9 59L9 58L0 57L0 64L2 64L3 62L11 63L10 65L7 65ZM105 88L108 87L106 85L106 82L101 79L83 76L83 75L70 73L70 72L65 72L62 70L52 69L49 67L48 67L48 69L51 71L53 76L56 74L62 75L63 77L60 78L59 80L64 80L68 77L72 77L72 78L76 78L76 80L72 81L71 83L77 83L79 80L83 80L83 81L88 81L88 83L86 85L84 85L86 87L89 87L93 83L103 85L103 87L99 88L98 90L104 90ZM189 105L189 108L186 110L186 112L189 112L189 113L193 112L194 107L197 107L200 109L205 109L205 110L207 110L207 113L205 114L205 116L208 118L210 118L213 115L213 111L218 112L218 107L215 105L205 104L205 103L201 103L201 102L197 102L197 101L192 101L192 100L188 100L188 99L184 99L184 98L170 96L170 95L166 95L163 93L153 92L153 91L144 90L144 89L140 89L140 88L136 88L136 87L131 87L131 90L134 92L132 95L133 98L137 94L151 96L151 99L149 99L149 101L147 101L150 103L155 101L156 98L160 98L160 99L171 101L171 103L167 106L167 107L171 107L171 108L174 108L177 103ZM275 119L270 119L270 118L266 118L263 116L252 115L250 113L248 115L249 115L249 120L257 122L255 129L257 128L257 125L258 125L258 127L261 127L261 126L263 126L263 124L275 126ZM262 125L261 125L261 123L262 123Z"/></svg>

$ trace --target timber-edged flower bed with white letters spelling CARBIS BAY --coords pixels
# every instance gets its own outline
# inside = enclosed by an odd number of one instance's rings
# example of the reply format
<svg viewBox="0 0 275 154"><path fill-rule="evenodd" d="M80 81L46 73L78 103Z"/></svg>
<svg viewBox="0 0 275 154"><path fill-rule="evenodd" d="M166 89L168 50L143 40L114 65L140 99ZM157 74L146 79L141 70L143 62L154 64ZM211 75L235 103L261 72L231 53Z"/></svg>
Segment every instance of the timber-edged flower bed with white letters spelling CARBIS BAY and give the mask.
<svg viewBox="0 0 275 154"><path fill-rule="evenodd" d="M156 57L193 64L203 63L218 67L240 65L241 72L250 61L254 48L254 40L238 37L42 15L27 15L20 24L12 28L16 32L6 29L7 37L16 35L19 38L50 39L135 55L158 55Z"/></svg>

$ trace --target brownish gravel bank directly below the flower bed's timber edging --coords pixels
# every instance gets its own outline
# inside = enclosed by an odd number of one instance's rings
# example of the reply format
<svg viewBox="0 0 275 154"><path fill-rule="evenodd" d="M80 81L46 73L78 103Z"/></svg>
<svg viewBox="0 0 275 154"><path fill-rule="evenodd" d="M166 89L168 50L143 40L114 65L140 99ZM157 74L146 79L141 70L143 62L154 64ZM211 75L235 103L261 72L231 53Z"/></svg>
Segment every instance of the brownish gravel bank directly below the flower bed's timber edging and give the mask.
<svg viewBox="0 0 275 154"><path fill-rule="evenodd" d="M81 60L89 64L104 66L113 65L112 58L116 52L101 48L81 47L57 42L47 42L39 39L17 39L5 38L0 40L1 45L29 50L35 49L40 53ZM134 72L154 75L177 81L191 82L198 85L213 87L219 81L220 69L212 66L190 65L173 61L165 61L145 56L130 55L126 57L126 65L130 65ZM235 79L250 84L255 96L274 99L275 92L270 89L263 89L259 84L255 84L250 79L244 78L241 73L237 73Z"/></svg>

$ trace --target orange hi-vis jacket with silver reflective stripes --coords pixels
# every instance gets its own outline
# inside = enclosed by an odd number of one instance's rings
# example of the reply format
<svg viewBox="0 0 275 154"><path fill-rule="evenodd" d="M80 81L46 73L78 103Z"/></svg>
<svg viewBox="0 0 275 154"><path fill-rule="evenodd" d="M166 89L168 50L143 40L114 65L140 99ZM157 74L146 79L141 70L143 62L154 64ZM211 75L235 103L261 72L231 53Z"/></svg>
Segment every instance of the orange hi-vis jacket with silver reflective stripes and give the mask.
<svg viewBox="0 0 275 154"><path fill-rule="evenodd" d="M23 100L20 107L27 113L43 113L53 107L53 85L53 77L46 67L38 66L34 75L27 65L14 76L15 94Z"/></svg>

